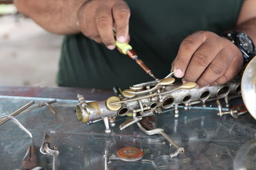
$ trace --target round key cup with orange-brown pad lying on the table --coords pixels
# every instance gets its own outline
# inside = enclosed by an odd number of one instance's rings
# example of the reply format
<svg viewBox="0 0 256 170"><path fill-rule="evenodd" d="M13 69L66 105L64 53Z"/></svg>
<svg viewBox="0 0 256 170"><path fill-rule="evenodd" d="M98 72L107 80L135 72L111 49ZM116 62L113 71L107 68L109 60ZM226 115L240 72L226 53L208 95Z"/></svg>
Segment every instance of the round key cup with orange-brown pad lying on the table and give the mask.
<svg viewBox="0 0 256 170"><path fill-rule="evenodd" d="M125 147L118 150L117 156L124 161L136 161L143 157L143 151L138 148Z"/></svg>

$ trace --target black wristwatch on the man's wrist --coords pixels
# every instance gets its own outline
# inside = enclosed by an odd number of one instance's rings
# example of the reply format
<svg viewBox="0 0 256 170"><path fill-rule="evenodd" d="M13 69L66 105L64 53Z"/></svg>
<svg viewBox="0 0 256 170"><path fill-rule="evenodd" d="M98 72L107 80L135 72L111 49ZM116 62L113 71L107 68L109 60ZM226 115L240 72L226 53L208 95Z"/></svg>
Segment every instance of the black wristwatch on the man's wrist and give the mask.
<svg viewBox="0 0 256 170"><path fill-rule="evenodd" d="M255 56L255 46L252 39L244 32L232 31L226 32L225 37L230 39L234 45L236 45L239 50L243 53L244 64L250 62Z"/></svg>

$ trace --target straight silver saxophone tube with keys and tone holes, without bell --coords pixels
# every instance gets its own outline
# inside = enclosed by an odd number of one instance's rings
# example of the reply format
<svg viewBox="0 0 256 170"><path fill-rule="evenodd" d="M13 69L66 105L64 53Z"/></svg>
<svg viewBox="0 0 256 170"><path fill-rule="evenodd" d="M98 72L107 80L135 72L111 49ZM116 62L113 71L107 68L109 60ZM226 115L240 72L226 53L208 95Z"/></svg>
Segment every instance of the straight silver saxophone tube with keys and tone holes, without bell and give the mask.
<svg viewBox="0 0 256 170"><path fill-rule="evenodd" d="M84 97L78 94L77 120L88 124L103 120L106 126L105 132L109 133L111 132L109 124L115 126L117 116L124 117L129 113L133 118L138 115L147 117L154 113L170 110L174 106L175 117L179 117L179 105L183 105L184 109L187 109L188 106L195 104L205 106L207 101L225 98L226 106L228 106L228 96L241 94L240 81L237 80L201 89L195 88L195 82L184 84L174 82L173 77L167 76L162 80L134 85L130 89L122 90L119 96L90 103L86 103Z"/></svg>

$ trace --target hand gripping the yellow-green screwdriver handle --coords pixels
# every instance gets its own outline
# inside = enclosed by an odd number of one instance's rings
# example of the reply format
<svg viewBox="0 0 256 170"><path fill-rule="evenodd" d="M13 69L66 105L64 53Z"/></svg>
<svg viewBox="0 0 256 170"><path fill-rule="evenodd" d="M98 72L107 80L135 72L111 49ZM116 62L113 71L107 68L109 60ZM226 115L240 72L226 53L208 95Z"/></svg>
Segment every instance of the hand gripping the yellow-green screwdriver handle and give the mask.
<svg viewBox="0 0 256 170"><path fill-rule="evenodd" d="M117 41L129 41L130 10L125 1L86 1L77 16L81 32L97 43L104 43L110 50L115 48L113 27L116 29Z"/></svg>

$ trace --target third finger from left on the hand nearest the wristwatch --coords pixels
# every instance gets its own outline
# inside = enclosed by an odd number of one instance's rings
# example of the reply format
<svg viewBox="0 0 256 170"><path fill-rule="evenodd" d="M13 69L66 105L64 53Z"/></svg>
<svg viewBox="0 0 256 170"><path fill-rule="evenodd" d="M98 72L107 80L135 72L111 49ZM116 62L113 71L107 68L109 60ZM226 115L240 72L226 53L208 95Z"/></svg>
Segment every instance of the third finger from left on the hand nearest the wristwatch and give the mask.
<svg viewBox="0 0 256 170"><path fill-rule="evenodd" d="M204 87L206 85L210 85L218 78L220 78L228 69L228 66L232 63L234 59L233 56L228 55L227 50L221 50L214 60L212 60L211 64L205 69L204 73L196 83L200 87ZM218 83L218 82L217 82Z"/></svg>

